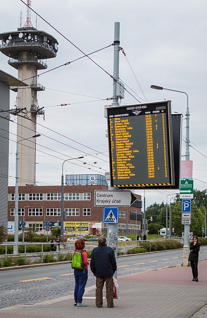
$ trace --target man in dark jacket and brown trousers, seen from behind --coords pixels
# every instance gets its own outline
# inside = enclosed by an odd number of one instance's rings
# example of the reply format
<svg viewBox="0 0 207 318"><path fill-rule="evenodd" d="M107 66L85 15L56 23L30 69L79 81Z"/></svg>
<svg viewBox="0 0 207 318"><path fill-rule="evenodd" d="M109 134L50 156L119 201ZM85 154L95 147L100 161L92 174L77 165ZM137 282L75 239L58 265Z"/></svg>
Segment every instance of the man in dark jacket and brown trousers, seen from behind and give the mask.
<svg viewBox="0 0 207 318"><path fill-rule="evenodd" d="M112 308L113 305L113 274L115 273L116 258L114 251L107 246L106 238L102 235L98 238L98 247L93 249L91 254L90 267L96 277L96 306L103 306L103 287L105 282L107 307Z"/></svg>

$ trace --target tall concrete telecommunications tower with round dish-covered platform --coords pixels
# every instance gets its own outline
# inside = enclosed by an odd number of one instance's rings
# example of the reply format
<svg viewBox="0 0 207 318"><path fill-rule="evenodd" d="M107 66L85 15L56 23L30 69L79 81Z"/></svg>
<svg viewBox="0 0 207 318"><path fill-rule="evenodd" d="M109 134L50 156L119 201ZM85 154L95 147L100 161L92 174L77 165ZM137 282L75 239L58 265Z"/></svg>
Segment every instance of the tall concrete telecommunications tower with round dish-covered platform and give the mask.
<svg viewBox="0 0 207 318"><path fill-rule="evenodd" d="M31 23L31 0L27 0L27 21L17 31L0 33L0 51L9 57L8 64L18 69L18 78L29 86L14 87L17 92L17 107L27 108L28 120L17 116L17 141L36 134L36 117L44 115L43 108L37 106L37 92L45 88L37 81L37 70L46 69L43 60L55 58L58 41L52 35L36 30ZM24 114L23 114L24 115ZM18 183L20 186L35 185L36 141L35 138L18 144Z"/></svg>

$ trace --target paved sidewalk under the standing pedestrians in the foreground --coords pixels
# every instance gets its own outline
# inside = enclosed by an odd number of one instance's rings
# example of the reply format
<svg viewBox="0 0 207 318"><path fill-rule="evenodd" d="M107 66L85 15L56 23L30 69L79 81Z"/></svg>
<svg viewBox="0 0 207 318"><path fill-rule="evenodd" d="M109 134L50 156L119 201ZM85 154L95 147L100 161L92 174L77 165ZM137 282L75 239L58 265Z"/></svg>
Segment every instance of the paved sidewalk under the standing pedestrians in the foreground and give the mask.
<svg viewBox="0 0 207 318"><path fill-rule="evenodd" d="M2 308L0 318L207 318L207 260L199 261L198 268L198 283L192 282L191 268L181 266L122 276L114 308L106 307L106 299L103 308L96 308L95 286L90 286L83 299L88 307L75 307L72 292L66 290L64 297Z"/></svg>

